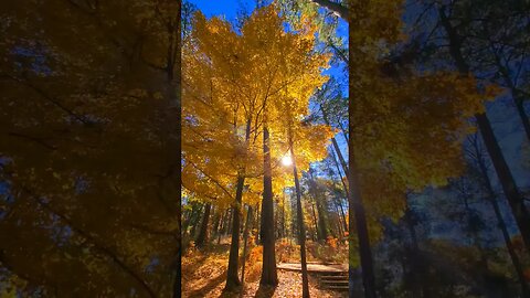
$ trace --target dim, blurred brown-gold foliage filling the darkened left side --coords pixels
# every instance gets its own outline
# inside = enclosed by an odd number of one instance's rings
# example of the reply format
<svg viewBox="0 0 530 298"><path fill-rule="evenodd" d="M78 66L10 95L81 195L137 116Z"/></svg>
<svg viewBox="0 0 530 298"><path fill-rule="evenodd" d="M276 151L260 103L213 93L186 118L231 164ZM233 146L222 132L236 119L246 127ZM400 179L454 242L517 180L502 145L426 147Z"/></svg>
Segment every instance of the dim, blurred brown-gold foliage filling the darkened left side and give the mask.
<svg viewBox="0 0 530 298"><path fill-rule="evenodd" d="M0 13L2 267L50 295L178 295L180 1Z"/></svg>

